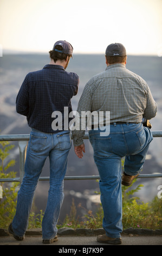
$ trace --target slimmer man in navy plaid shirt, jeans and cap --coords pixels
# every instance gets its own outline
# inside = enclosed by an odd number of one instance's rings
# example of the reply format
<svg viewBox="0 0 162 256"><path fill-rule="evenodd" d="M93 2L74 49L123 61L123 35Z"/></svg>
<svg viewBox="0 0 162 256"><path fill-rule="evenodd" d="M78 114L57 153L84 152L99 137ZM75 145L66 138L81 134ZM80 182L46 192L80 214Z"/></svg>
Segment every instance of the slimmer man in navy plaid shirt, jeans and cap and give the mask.
<svg viewBox="0 0 162 256"><path fill-rule="evenodd" d="M64 117L64 108L67 109L67 116L72 112L71 99L77 94L79 85L77 74L66 71L72 53L73 47L69 42L57 41L49 52L50 63L42 70L30 72L17 95L16 110L27 117L31 127L25 175L18 192L16 214L9 226L9 232L17 240L24 239L35 188L49 156L50 188L42 235L43 243L57 241L56 224L64 197L63 180L71 141L64 120L61 129L53 129L51 124L53 113L59 112Z"/></svg>

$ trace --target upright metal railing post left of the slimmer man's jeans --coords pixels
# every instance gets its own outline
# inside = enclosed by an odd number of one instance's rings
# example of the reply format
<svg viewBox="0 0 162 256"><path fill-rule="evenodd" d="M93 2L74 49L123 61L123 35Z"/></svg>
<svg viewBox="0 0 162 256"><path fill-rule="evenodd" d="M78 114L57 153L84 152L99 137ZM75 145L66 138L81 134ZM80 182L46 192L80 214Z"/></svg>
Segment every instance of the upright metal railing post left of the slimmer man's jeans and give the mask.
<svg viewBox="0 0 162 256"><path fill-rule="evenodd" d="M27 141L18 141L18 148L20 151L20 184L22 184L23 176L24 176L24 165L25 158L27 152Z"/></svg>

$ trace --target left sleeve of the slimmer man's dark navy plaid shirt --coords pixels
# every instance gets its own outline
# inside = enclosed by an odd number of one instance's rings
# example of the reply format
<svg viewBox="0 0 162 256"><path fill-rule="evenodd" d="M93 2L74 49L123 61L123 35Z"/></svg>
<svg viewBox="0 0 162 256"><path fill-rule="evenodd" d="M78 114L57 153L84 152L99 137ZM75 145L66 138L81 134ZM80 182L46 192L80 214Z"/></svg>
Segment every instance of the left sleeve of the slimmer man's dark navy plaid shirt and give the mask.
<svg viewBox="0 0 162 256"><path fill-rule="evenodd" d="M16 112L27 117L29 113L28 76L25 77L16 97Z"/></svg>

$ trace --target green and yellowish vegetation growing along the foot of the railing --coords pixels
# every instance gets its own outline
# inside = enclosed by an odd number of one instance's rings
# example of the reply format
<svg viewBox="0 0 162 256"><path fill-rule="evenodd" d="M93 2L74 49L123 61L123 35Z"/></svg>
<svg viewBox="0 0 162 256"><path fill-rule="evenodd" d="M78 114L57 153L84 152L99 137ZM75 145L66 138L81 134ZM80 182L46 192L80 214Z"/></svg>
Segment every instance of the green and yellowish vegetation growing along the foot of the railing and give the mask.
<svg viewBox="0 0 162 256"><path fill-rule="evenodd" d="M9 142L0 142L0 178L15 178L15 172L9 172L8 169L14 166L15 161L10 160L4 167L4 160L9 155L9 151L14 147ZM134 184L133 181L132 185ZM0 199L0 228L8 228L16 211L16 198L19 185L17 182L4 182L0 184L3 187L3 199ZM132 186L131 185L131 186ZM129 190L128 187L122 186L122 202L123 202L123 228L147 228L147 229L162 229L162 199L157 196L152 202L141 202L138 197L134 197L134 193L139 191L143 185L138 185L134 190ZM70 214L66 216L63 223L59 223L57 228L102 228L103 211L99 204L98 210L93 215L92 211L87 211L85 216L76 216L77 208L82 208L79 204L75 206L73 200ZM86 209L85 209L86 210ZM31 212L29 217L29 229L41 228L43 212L36 215Z"/></svg>

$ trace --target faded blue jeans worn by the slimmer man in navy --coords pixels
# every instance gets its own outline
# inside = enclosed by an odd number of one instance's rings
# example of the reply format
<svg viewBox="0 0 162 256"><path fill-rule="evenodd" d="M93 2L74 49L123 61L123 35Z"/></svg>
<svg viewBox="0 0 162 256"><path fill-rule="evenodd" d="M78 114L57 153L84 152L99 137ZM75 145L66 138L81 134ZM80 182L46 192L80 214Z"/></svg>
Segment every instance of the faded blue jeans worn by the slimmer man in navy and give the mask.
<svg viewBox="0 0 162 256"><path fill-rule="evenodd" d="M31 130L25 160L25 175L18 192L16 214L12 221L12 228L16 235L23 236L28 228L28 218L34 192L48 156L50 188L42 221L42 236L43 239L51 239L57 234L56 224L64 198L63 181L71 147L69 131L44 133L35 129Z"/></svg>

